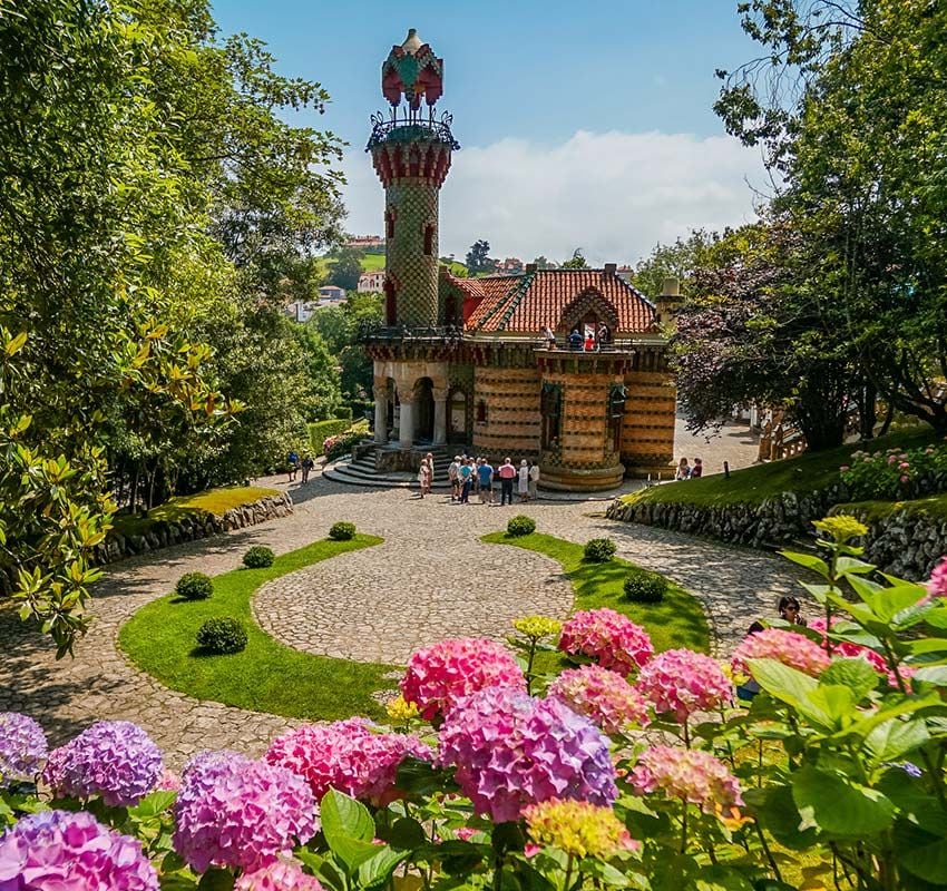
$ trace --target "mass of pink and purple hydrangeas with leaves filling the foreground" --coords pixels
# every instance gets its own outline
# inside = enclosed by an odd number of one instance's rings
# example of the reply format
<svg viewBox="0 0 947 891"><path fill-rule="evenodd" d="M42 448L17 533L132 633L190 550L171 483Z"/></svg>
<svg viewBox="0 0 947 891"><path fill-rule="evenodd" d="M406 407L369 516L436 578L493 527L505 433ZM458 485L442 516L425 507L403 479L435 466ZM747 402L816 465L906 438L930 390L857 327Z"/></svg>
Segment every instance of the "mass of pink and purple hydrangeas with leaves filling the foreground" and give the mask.
<svg viewBox="0 0 947 891"><path fill-rule="evenodd" d="M947 888L947 561L880 577L857 520L817 529L787 557L821 615L735 648L748 707L711 657L593 610L416 653L391 728L305 725L179 777L135 725L47 755L0 714L0 891ZM515 654L559 633L582 664L530 695Z"/></svg>

